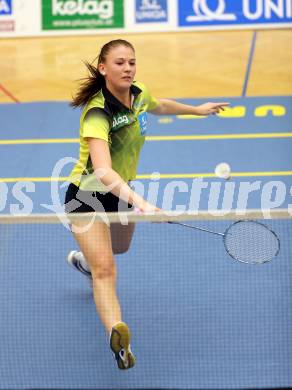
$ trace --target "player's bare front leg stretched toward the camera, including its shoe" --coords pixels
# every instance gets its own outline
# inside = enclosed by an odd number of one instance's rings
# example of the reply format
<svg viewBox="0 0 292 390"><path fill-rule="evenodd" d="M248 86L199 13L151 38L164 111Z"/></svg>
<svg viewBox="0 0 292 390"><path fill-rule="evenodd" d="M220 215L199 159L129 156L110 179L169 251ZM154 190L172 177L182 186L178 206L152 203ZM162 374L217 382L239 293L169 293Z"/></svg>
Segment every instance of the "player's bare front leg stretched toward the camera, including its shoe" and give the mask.
<svg viewBox="0 0 292 390"><path fill-rule="evenodd" d="M101 321L110 334L110 347L118 367L131 368L135 364L135 357L130 348L130 330L122 322L116 293L117 271L109 227L105 223L96 222L88 229L84 229L83 233L78 233L78 228L79 230L84 228L84 222L74 222L74 225L74 236L91 270L95 305ZM72 230L74 232L74 226Z"/></svg>

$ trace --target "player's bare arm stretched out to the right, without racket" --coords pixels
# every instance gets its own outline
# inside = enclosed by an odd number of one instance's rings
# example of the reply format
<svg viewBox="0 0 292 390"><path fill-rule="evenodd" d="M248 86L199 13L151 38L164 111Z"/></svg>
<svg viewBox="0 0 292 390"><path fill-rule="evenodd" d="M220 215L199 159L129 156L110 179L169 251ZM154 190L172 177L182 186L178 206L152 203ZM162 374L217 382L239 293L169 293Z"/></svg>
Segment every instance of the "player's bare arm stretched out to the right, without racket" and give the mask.
<svg viewBox="0 0 292 390"><path fill-rule="evenodd" d="M170 99L157 99L158 106L149 112L155 115L212 115L224 111L229 106L227 102L203 103L199 106L190 106Z"/></svg>

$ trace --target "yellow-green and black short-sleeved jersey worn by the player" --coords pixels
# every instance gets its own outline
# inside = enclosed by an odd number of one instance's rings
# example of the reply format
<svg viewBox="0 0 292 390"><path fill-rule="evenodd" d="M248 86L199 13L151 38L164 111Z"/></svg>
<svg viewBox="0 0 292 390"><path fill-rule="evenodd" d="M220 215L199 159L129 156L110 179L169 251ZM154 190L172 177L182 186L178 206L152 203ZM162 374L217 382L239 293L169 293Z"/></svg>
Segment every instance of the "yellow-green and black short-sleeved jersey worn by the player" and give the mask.
<svg viewBox="0 0 292 390"><path fill-rule="evenodd" d="M147 111L157 107L140 82L130 88L131 108L124 106L103 87L84 107L80 118L79 161L69 181L84 191L105 191L96 178L92 166L87 138L102 139L109 144L112 168L125 182L135 179L141 148L145 142Z"/></svg>

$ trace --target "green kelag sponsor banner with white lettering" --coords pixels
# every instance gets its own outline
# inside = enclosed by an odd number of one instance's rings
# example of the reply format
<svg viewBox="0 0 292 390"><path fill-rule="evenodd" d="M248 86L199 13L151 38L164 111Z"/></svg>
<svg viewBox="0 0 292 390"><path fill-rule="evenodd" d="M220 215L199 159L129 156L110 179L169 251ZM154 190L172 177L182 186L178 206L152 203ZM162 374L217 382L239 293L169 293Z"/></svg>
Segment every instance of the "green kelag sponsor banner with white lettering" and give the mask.
<svg viewBox="0 0 292 390"><path fill-rule="evenodd" d="M43 30L124 27L123 3L123 0L42 0L42 27Z"/></svg>

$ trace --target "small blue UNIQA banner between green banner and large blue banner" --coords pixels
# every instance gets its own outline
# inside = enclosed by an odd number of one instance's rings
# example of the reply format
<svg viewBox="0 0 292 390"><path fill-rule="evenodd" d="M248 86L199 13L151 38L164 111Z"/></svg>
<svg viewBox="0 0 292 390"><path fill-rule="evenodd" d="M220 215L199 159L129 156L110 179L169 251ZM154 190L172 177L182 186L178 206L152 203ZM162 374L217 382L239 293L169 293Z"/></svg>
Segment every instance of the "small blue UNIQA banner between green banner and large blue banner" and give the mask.
<svg viewBox="0 0 292 390"><path fill-rule="evenodd" d="M136 0L136 23L167 22L167 0Z"/></svg>

